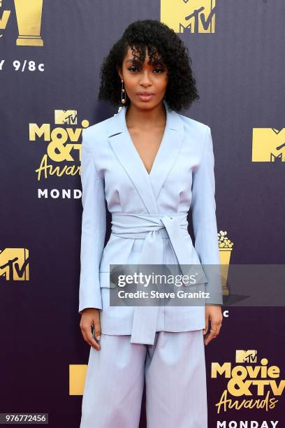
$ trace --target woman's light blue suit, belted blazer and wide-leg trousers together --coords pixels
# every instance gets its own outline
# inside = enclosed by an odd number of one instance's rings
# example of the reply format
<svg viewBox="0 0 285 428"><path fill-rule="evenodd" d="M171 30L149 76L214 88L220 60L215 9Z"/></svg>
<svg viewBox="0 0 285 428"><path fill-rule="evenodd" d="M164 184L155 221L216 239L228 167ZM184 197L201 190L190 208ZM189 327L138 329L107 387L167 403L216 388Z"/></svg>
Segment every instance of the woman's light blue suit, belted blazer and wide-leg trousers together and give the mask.
<svg viewBox="0 0 285 428"><path fill-rule="evenodd" d="M150 173L126 107L82 131L79 312L101 309L101 350L90 349L80 428L138 427L144 377L147 428L207 427L205 306L109 304L110 264L220 264L210 128L163 104L166 129ZM105 200L112 234L104 248ZM208 279L201 269L207 303L221 304L221 283Z"/></svg>

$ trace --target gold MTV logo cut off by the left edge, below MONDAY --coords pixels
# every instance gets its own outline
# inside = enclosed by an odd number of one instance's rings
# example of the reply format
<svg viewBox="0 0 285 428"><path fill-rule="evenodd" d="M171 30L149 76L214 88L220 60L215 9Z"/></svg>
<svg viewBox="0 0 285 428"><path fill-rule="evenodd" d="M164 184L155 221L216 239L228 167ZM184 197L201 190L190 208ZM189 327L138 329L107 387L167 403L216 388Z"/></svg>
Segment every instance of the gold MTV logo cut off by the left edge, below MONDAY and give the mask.
<svg viewBox="0 0 285 428"><path fill-rule="evenodd" d="M5 248L0 252L0 276L8 280L29 280L29 250Z"/></svg>

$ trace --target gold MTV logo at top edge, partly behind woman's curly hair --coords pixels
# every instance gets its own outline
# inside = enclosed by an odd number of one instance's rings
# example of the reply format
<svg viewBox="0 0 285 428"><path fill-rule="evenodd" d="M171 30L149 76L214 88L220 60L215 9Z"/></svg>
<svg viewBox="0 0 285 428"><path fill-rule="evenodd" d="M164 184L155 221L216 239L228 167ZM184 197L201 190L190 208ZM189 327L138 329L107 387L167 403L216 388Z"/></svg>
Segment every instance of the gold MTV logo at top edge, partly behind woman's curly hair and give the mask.
<svg viewBox="0 0 285 428"><path fill-rule="evenodd" d="M161 0L161 22L175 33L214 33L216 0Z"/></svg>

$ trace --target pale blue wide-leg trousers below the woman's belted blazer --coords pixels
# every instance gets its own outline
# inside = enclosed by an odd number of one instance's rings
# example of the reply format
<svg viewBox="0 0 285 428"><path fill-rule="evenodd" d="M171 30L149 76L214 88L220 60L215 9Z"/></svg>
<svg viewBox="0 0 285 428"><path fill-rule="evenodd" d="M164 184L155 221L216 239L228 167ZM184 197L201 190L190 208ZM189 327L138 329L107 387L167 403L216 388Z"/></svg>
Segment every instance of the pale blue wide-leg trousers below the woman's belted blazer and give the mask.
<svg viewBox="0 0 285 428"><path fill-rule="evenodd" d="M80 428L207 428L203 331L156 331L153 345L101 334L90 347Z"/></svg>

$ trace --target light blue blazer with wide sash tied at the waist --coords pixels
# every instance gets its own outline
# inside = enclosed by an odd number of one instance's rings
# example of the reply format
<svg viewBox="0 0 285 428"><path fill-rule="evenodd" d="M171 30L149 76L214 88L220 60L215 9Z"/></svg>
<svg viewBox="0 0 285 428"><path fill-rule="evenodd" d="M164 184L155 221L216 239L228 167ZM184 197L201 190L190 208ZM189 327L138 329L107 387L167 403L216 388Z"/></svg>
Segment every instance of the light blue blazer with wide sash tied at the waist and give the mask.
<svg viewBox="0 0 285 428"><path fill-rule="evenodd" d="M210 127L163 105L166 129L150 173L126 127L125 106L82 131L79 312L101 309L101 332L130 334L131 343L153 344L156 331L205 328L205 305L110 306L110 264L220 265ZM104 248L105 200L112 233ZM222 304L220 281L201 269L197 283L210 292L206 304Z"/></svg>

